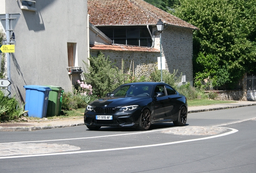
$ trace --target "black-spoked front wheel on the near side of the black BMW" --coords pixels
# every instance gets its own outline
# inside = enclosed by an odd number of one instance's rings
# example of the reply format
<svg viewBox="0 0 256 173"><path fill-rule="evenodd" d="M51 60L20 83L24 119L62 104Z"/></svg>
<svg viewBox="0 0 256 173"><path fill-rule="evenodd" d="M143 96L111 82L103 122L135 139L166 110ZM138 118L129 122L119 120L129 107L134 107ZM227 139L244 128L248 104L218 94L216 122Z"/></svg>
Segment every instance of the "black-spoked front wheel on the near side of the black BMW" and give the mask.
<svg viewBox="0 0 256 173"><path fill-rule="evenodd" d="M137 130L144 131L149 129L151 125L151 113L148 109L144 109L140 115L139 124L136 127Z"/></svg>

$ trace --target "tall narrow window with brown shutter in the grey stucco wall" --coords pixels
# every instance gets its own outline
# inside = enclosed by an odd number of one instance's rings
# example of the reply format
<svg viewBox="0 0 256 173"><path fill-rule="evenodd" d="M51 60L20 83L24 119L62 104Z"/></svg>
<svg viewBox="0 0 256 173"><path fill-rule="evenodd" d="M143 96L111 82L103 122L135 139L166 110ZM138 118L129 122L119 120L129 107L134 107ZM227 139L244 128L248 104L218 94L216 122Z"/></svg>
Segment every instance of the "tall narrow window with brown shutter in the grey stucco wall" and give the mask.
<svg viewBox="0 0 256 173"><path fill-rule="evenodd" d="M68 66L78 66L76 43L68 42ZM68 69L70 71L71 69Z"/></svg>

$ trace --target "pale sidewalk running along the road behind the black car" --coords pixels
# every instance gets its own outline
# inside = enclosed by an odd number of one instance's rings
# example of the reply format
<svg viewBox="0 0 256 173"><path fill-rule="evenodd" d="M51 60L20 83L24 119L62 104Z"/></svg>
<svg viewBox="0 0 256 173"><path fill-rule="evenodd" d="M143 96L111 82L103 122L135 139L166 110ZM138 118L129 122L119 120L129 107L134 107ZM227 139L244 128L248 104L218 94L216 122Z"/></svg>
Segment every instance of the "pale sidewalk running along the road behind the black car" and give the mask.
<svg viewBox="0 0 256 173"><path fill-rule="evenodd" d="M198 113L204 111L214 111L221 109L232 109L237 107L255 106L256 101L237 101L234 103L223 103L208 106L188 107L188 113ZM0 131L37 131L45 129L55 129L63 127L74 127L84 125L83 117L69 119L54 119L54 120L37 120L18 123L1 123Z"/></svg>

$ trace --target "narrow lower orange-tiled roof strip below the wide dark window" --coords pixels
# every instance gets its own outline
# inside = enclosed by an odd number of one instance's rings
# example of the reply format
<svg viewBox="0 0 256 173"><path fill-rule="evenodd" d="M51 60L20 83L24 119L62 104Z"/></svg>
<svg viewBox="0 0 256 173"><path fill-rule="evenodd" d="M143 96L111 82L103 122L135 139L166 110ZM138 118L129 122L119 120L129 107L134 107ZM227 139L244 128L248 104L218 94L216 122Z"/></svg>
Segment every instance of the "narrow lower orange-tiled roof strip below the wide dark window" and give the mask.
<svg viewBox="0 0 256 173"><path fill-rule="evenodd" d="M131 46L124 44L113 44L113 45L103 45L94 44L90 45L92 50L115 50L115 51L136 51L136 52L160 52L160 50L151 47L142 46Z"/></svg>

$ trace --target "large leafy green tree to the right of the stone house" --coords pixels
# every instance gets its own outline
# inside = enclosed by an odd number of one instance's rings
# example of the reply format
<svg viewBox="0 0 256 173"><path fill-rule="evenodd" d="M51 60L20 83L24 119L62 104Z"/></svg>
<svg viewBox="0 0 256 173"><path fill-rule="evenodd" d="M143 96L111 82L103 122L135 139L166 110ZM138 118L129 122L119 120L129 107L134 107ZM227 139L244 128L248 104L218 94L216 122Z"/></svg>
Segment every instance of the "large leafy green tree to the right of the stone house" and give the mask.
<svg viewBox="0 0 256 173"><path fill-rule="evenodd" d="M256 68L255 2L180 0L173 14L200 28L193 34L194 75L207 74L212 69L209 58L198 64L198 58L207 55L216 57L219 72L212 73L211 78L222 78L219 83L237 82L245 72ZM202 63L205 68L201 68Z"/></svg>

